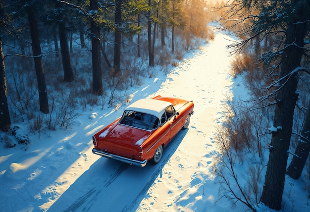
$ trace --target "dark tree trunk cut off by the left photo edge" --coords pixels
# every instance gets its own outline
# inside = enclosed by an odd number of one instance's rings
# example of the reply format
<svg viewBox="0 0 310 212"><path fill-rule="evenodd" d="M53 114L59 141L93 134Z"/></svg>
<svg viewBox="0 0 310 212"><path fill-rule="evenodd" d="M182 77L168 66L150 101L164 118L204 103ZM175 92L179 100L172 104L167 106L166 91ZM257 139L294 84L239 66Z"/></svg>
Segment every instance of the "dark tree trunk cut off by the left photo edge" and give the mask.
<svg viewBox="0 0 310 212"><path fill-rule="evenodd" d="M7 87L5 81L5 65L2 49L2 41L0 36L0 130L7 132L11 126L11 119L7 105Z"/></svg>

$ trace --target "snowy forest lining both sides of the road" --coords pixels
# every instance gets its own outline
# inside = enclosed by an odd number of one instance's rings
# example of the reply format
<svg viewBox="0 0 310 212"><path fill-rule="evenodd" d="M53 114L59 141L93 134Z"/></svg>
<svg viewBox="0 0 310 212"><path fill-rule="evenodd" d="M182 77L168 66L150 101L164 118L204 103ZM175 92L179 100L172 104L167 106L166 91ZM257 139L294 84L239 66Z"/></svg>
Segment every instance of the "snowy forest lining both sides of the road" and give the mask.
<svg viewBox="0 0 310 212"><path fill-rule="evenodd" d="M83 111L117 110L130 87L211 42L211 22L238 39L227 47L229 74L250 92L226 97L213 164L219 197L245 211L285 211L293 179L309 206L310 0L1 0L1 149L28 151L21 125L41 138L74 128Z"/></svg>

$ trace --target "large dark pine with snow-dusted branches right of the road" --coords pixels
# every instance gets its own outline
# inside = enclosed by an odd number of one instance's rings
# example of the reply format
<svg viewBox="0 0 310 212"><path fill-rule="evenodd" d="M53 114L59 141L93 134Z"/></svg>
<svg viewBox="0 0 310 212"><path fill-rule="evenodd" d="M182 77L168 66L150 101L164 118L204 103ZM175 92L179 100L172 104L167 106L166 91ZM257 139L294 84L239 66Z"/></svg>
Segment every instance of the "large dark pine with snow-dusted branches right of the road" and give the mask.
<svg viewBox="0 0 310 212"><path fill-rule="evenodd" d="M243 41L233 45L235 51L241 51L248 43L258 38L268 39L280 37L279 49L275 47L261 54L261 59L268 61L280 58L278 80L266 87L273 88L269 96L269 104L275 104L272 138L269 145L269 160L267 164L265 183L261 202L271 209L280 210L284 189L285 171L290 146L293 116L298 95L298 74L301 68L302 56L310 20L310 0L235 0L231 10L226 13L224 24L233 29ZM237 19L233 19L238 15ZM234 21L237 21L234 22ZM242 25L239 27L238 25ZM260 41L258 40L258 41ZM274 70L274 69L273 69Z"/></svg>

